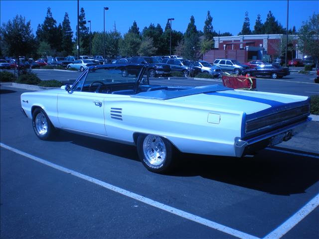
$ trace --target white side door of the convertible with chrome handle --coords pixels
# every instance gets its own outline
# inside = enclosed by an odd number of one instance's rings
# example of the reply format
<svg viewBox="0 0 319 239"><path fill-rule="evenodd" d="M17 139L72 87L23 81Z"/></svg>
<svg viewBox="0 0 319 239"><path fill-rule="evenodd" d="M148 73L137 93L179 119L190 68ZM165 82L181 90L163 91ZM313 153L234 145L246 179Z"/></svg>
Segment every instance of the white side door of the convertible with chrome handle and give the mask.
<svg viewBox="0 0 319 239"><path fill-rule="evenodd" d="M57 111L61 127L107 135L104 125L104 94L83 92L84 74L72 93L58 95Z"/></svg>

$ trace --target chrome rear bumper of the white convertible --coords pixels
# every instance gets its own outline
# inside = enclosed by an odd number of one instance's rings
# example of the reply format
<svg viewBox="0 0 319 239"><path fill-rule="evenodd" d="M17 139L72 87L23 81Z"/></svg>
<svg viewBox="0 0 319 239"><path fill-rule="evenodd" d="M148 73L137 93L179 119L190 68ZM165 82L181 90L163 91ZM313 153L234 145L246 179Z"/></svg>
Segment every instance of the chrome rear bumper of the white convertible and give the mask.
<svg viewBox="0 0 319 239"><path fill-rule="evenodd" d="M235 156L241 157L245 154L249 154L248 152L250 151L261 150L265 147L279 144L282 141L288 141L294 135L303 131L310 121L311 118L308 118L303 122L295 123L247 140L241 140L240 137L236 137L234 143Z"/></svg>

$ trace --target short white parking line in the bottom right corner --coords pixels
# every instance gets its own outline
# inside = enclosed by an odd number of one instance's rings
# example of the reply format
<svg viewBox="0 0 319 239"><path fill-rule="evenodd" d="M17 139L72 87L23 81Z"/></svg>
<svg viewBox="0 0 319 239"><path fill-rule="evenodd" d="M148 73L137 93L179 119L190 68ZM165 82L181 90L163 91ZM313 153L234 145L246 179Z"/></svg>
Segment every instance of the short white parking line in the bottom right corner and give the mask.
<svg viewBox="0 0 319 239"><path fill-rule="evenodd" d="M301 222L307 215L314 211L319 205L319 194L316 195L309 203L307 203L302 209L290 217L286 222L280 225L273 232L268 234L264 239L279 239L288 233L293 227Z"/></svg>

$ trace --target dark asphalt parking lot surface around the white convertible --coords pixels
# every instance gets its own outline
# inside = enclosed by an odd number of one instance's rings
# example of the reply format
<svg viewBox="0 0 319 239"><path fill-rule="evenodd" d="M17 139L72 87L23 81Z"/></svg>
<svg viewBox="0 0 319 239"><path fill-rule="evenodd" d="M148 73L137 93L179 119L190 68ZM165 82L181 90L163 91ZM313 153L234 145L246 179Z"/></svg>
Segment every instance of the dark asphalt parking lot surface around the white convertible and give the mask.
<svg viewBox="0 0 319 239"><path fill-rule="evenodd" d="M1 86L1 238L319 237L319 122L253 157L182 154L159 175L134 146L67 132L39 140L22 92Z"/></svg>

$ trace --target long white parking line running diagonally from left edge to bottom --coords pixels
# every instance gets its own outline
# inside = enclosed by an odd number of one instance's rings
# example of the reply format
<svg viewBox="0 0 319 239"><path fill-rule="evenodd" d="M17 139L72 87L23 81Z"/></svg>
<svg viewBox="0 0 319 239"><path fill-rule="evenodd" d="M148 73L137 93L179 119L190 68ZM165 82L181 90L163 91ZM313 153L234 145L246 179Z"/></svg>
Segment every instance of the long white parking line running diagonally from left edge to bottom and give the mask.
<svg viewBox="0 0 319 239"><path fill-rule="evenodd" d="M193 215L193 214L190 214L190 213L187 213L187 212L184 212L182 210L179 210L179 209L176 209L176 208L173 208L173 207L170 207L168 205L165 205L165 204L162 204L160 202L157 202L157 201L154 201L152 199L149 199L149 198L146 198L146 197L143 197L141 195L138 195L138 194L135 194L133 192L130 192L130 191L127 191L125 189L122 189L122 188L119 188L119 187L116 187L114 185L111 185L111 184L108 184L106 182L103 182L103 181L100 181L98 179L95 179L95 178L92 178L90 176L87 176L87 175L84 175L84 174L81 174L79 172L76 172L76 171L73 171L71 169L68 169L68 168L65 168L65 167L62 167L60 165L57 165L57 164L54 164L54 163L51 163L49 161L46 161L44 159L41 159L41 158L38 158L36 156L33 156L31 154L28 154L26 152L23 152L23 151L20 151L18 149L15 149L15 148L12 148L6 144L3 144L3 143L0 143L0 146L7 149L7 150L10 150L14 153L17 153L19 155L22 155L26 158L29 158L29 159L32 159L36 162L39 162L39 163L42 163L44 165L47 165L49 167L52 167L54 169L57 169L59 171L62 171L62 172L65 172L65 173L68 173L68 174L71 174L75 177L78 177L78 178L81 178L81 179L84 179L86 181L89 181L91 183L94 183L94 184L97 184L99 186L102 186L106 189L109 189L111 191L114 191L114 192L117 192L119 194L122 194L126 197L129 197L129 198L132 198L132 199L135 199L137 201L140 201L142 203L145 203L147 205L150 205L150 206L153 206L153 207L156 207L160 210L163 210L163 211L166 211L168 213L171 213L171 214L174 214L176 216L179 216L179 217L182 217L184 219L187 219L187 220L190 220L190 221L193 221L195 223L199 223L201 225L204 225L204 226L207 226L209 228L212 228L212 229L215 229L215 230L218 230L220 232L223 232L223 233L226 233L228 235L232 235L234 237L237 237L237 238L241 238L241 239L259 239L258 237L255 237L255 236L252 236L252 235L249 235L249 234L246 234L246 233L243 233L243 232L240 232L238 230L235 230L235 229L232 229L232 228L229 228L229 227L226 227L224 225L221 225L221 224L218 224L218 223L215 223L213 221L210 221L210 220L207 220L207 219L204 219L204 218L201 218L199 216L196 216L196 215Z"/></svg>

